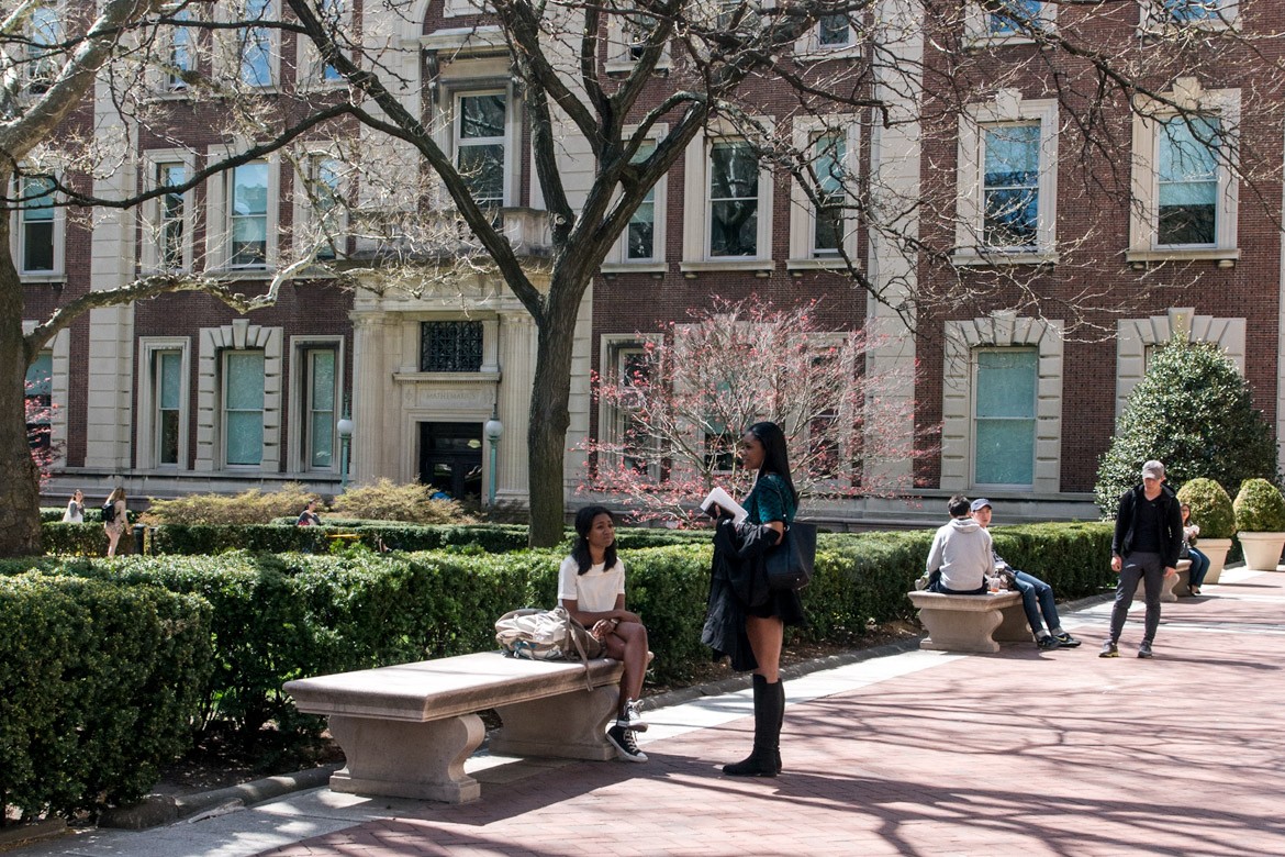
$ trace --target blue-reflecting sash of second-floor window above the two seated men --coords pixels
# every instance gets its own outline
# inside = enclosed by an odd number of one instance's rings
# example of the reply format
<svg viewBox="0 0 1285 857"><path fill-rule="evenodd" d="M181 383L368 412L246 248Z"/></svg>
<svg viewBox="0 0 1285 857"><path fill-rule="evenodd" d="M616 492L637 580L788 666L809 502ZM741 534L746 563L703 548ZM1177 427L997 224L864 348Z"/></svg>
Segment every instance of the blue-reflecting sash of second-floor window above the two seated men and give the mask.
<svg viewBox="0 0 1285 857"><path fill-rule="evenodd" d="M1031 248L1040 233L1040 123L983 128L982 240L987 247Z"/></svg>

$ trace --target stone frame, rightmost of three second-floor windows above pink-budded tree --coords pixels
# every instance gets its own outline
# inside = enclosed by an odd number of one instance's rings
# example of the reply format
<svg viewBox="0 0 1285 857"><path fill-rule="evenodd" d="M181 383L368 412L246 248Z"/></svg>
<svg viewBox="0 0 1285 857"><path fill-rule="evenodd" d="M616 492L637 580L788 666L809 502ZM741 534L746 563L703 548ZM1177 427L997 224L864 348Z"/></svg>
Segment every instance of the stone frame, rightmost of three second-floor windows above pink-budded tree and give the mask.
<svg viewBox="0 0 1285 857"><path fill-rule="evenodd" d="M790 233L788 270L842 269L847 267L843 256L848 257L853 269L861 267L857 256L861 236L861 218L857 216L855 184L860 181L861 163L861 123L856 113L835 113L824 117L799 117L794 119L793 145L795 152L807 148L810 157L816 137L829 134L843 135L843 170L851 176L852 184L844 189L843 254L834 252L819 256L816 253L816 211L798 180L790 181Z"/></svg>

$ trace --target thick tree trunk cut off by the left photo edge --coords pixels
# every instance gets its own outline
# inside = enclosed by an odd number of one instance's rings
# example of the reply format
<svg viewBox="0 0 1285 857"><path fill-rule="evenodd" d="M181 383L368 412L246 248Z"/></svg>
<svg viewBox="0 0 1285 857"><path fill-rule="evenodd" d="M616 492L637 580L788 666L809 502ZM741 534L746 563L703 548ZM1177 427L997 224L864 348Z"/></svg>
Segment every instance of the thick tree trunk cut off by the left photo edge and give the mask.
<svg viewBox="0 0 1285 857"><path fill-rule="evenodd" d="M5 176L5 186L8 186ZM0 247L9 217L0 217ZM39 556L40 473L27 441L27 353L22 338L22 281L0 253L0 556Z"/></svg>

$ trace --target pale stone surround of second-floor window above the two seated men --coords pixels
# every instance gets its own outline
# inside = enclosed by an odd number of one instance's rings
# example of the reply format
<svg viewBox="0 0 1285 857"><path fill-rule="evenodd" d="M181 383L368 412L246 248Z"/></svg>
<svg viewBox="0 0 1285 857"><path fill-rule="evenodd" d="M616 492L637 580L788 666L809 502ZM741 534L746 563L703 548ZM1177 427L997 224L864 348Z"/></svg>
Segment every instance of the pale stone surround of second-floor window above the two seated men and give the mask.
<svg viewBox="0 0 1285 857"><path fill-rule="evenodd" d="M956 226L952 261L959 266L1046 265L1058 254L1058 100L1023 99L1001 90L992 102L970 104L960 114L956 166ZM986 131L991 127L1040 125L1040 170L1036 243L986 244Z"/></svg>

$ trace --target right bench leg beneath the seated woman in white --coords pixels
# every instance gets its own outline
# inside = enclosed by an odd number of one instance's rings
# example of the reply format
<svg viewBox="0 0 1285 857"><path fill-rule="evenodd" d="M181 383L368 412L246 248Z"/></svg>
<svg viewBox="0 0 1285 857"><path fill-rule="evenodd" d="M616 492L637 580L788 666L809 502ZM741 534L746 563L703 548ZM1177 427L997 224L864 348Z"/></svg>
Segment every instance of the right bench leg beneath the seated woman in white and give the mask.
<svg viewBox="0 0 1285 857"><path fill-rule="evenodd" d="M616 717L618 695L618 687L604 686L496 708L504 725L487 747L501 755L614 759L607 722Z"/></svg>

